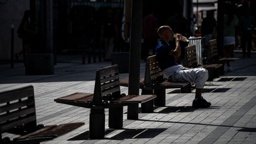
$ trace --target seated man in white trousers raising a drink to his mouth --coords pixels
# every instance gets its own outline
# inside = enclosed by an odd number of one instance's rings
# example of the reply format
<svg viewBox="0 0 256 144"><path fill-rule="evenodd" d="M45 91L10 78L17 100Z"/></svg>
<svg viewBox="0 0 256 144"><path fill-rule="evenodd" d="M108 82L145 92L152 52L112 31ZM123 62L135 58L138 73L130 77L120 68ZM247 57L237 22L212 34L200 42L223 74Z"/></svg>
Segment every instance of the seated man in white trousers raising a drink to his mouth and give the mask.
<svg viewBox="0 0 256 144"><path fill-rule="evenodd" d="M175 34L172 29L167 26L161 26L158 28L158 35L161 40L156 46L156 59L159 62L159 66L170 81L188 81L194 82L196 85L196 96L192 106L194 108L207 108L211 103L204 100L201 97L201 92L204 84L208 78L208 71L204 68L184 68L182 65L178 65L175 62L174 56L181 55L180 40L181 34ZM175 46L171 46L169 41L175 39Z"/></svg>

